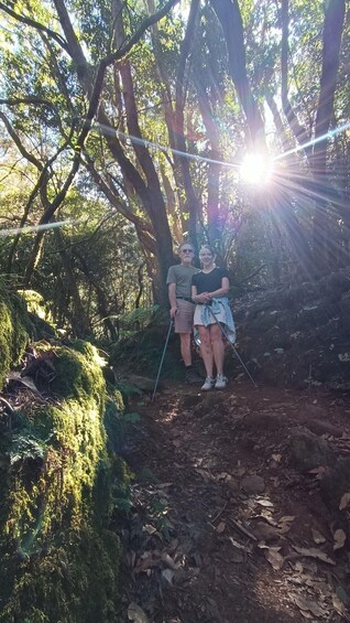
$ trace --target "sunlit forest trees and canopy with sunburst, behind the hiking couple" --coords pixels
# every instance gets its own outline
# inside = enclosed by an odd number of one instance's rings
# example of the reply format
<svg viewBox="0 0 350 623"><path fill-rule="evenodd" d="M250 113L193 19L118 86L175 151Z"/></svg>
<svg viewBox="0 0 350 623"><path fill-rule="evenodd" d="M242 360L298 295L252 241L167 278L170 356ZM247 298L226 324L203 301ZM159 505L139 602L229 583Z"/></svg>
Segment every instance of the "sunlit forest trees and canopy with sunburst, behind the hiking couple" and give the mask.
<svg viewBox="0 0 350 623"><path fill-rule="evenodd" d="M184 238L237 283L349 264L344 0L0 11L0 271L59 323L116 339Z"/></svg>

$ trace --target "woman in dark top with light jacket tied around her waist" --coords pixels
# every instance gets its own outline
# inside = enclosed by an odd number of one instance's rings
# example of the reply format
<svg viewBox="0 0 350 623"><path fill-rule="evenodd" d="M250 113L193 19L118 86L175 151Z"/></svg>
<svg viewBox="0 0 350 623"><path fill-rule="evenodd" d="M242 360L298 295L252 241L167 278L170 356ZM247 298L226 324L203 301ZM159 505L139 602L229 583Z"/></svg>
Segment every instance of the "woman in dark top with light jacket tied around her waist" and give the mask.
<svg viewBox="0 0 350 623"><path fill-rule="evenodd" d="M192 278L192 298L196 304L194 324L199 333L200 353L207 378L201 387L205 391L215 387L225 389L227 378L223 375L225 345L222 332L234 343L236 331L227 294L229 273L215 265L215 253L204 245L199 251L203 270ZM214 364L217 377L214 378Z"/></svg>

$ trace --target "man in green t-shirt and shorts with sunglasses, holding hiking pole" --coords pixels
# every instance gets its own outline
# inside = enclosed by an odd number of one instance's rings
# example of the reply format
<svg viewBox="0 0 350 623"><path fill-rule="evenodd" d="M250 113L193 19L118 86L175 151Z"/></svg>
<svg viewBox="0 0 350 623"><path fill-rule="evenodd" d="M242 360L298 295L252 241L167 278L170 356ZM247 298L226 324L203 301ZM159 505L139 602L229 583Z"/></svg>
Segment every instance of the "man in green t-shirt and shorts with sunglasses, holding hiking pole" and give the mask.
<svg viewBox="0 0 350 623"><path fill-rule="evenodd" d="M179 334L181 353L185 364L185 383L198 383L199 376L192 364L190 339L194 329L195 304L190 298L192 278L198 272L193 266L195 249L190 243L178 248L181 264L171 266L166 283L171 303L171 318L175 320L175 333Z"/></svg>

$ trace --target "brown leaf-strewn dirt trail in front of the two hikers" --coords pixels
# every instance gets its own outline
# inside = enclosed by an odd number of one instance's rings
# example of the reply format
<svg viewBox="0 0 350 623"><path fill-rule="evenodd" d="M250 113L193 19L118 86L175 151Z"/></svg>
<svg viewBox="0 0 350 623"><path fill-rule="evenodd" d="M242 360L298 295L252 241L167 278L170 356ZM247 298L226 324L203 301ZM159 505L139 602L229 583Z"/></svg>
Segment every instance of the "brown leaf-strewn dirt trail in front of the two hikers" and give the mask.
<svg viewBox="0 0 350 623"><path fill-rule="evenodd" d="M350 455L349 394L254 389L241 375L223 391L167 384L132 409L120 622L350 621L350 548L324 469L303 474L289 458L310 421Z"/></svg>

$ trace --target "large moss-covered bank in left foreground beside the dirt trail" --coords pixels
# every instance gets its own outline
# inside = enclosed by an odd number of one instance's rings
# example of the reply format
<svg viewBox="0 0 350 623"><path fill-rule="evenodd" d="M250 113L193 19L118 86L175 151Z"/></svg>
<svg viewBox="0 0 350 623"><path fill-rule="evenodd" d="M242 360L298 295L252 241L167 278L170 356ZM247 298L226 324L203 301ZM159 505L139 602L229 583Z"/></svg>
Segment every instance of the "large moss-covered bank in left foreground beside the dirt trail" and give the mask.
<svg viewBox="0 0 350 623"><path fill-rule="evenodd" d="M1 447L2 623L117 620L120 545L109 525L130 474L107 443L98 352L73 346L54 348L55 404L30 407Z"/></svg>

